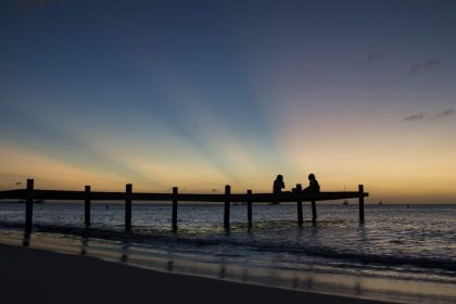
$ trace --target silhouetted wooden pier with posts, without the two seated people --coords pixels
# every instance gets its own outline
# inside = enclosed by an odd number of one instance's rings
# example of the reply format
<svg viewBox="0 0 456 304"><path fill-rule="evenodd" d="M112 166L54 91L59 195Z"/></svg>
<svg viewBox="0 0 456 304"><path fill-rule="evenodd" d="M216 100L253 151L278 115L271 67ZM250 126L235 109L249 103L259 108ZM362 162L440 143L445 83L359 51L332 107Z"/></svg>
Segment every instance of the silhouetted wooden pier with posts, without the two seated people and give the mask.
<svg viewBox="0 0 456 304"><path fill-rule="evenodd" d="M296 185L296 189L302 189L302 186ZM177 211L178 202L212 202L224 203L224 227L230 226L230 206L231 203L246 203L248 207L248 223L252 226L252 210L253 203L270 203L270 202L296 202L297 206L297 225L303 225L303 202L311 202L312 205L312 220L317 220L317 204L318 201L358 199L359 200L359 221L364 221L364 198L369 193L364 192L364 186L358 186L358 191L343 191L343 192L293 192L293 193L253 193L248 190L245 194L231 193L231 187L225 187L225 194L190 194L179 193L178 187L173 187L173 193L144 193L134 192L132 185L127 183L125 192L100 192L91 191L90 186L86 186L84 191L65 191L65 190L39 190L34 188L34 179L27 179L26 189L0 191L0 200L15 199L25 200L25 231L30 232L33 226L33 212L35 200L74 200L85 202L85 224L90 226L90 203L91 201L125 201L125 230L131 230L131 205L134 201L160 201L172 202L173 216L172 227L177 231Z"/></svg>

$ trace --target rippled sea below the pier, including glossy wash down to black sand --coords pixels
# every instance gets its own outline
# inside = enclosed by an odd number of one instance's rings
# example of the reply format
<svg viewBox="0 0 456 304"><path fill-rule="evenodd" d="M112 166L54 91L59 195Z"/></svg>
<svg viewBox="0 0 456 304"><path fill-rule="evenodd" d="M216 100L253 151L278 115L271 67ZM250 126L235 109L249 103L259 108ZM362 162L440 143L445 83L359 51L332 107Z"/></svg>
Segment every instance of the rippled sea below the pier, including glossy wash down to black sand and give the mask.
<svg viewBox="0 0 456 304"><path fill-rule="evenodd" d="M180 204L178 230L170 204L135 203L132 231L124 231L124 205L34 205L33 233L24 237L25 204L0 203L0 242L10 240L127 263L160 271L402 303L456 303L456 205L317 204L314 224L304 203L231 206ZM13 240L13 241L12 241Z"/></svg>

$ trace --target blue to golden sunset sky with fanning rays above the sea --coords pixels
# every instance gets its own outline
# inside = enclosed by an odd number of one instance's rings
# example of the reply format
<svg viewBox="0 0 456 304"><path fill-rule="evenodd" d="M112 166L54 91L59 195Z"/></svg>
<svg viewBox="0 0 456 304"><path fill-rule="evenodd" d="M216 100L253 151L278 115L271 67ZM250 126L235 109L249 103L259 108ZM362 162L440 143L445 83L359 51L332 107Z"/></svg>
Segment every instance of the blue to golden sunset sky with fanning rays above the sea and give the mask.
<svg viewBox="0 0 456 304"><path fill-rule="evenodd" d="M0 2L0 190L456 203L456 2Z"/></svg>

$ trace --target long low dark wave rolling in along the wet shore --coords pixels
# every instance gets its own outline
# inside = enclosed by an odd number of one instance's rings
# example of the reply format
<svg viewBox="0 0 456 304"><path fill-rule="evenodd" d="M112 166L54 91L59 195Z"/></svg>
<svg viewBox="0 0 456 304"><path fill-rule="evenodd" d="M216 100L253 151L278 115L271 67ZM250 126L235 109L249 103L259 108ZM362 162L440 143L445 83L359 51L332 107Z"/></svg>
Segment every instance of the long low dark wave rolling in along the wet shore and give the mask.
<svg viewBox="0 0 456 304"><path fill-rule="evenodd" d="M0 228L13 228L21 229L23 225L14 223L0 223ZM449 271L452 276L456 275L456 261L452 258L433 258L429 256L407 256L398 254L371 254L356 251L347 251L339 248L331 248L328 245L297 245L292 242L271 242L267 240L251 240L251 239L237 239L229 238L224 233L213 233L206 237L199 237L193 233L173 233L169 230L160 229L136 229L131 232L122 231L123 226L117 227L118 230L100 228L85 228L85 227L73 227L73 226L54 226L54 225L35 225L35 232L45 233L60 233L60 235L72 235L79 236L83 238L96 238L110 241L121 241L128 243L138 243L144 245L152 245L160 248L160 245L166 245L177 243L186 249L197 249L201 246L215 246L215 245L229 245L233 250L240 250L241 252L257 252L259 254L290 254L294 256L309 256L318 258L327 258L334 264L343 265L350 264L353 267L354 264L360 264L363 266L415 266L426 269L441 269ZM241 254L235 254L232 252L227 253L214 253L214 256L240 256Z"/></svg>

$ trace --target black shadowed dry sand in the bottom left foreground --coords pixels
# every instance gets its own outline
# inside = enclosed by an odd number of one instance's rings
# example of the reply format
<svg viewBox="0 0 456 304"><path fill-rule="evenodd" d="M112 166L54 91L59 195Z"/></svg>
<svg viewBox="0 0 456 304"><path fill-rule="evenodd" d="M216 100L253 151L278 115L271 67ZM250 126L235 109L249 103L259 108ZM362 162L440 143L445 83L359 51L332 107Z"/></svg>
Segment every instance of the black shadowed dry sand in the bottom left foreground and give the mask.
<svg viewBox="0 0 456 304"><path fill-rule="evenodd" d="M0 244L0 303L381 303Z"/></svg>

